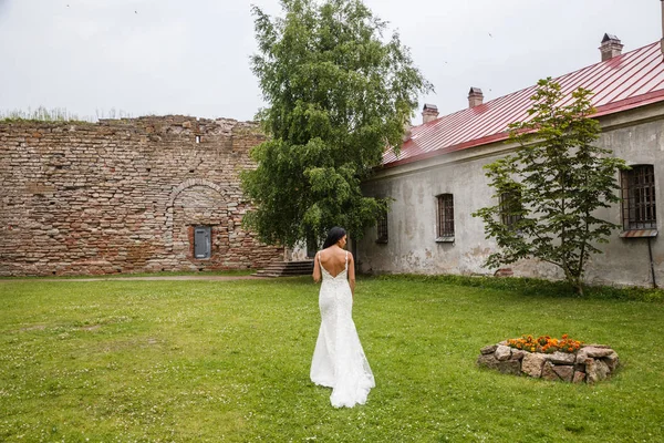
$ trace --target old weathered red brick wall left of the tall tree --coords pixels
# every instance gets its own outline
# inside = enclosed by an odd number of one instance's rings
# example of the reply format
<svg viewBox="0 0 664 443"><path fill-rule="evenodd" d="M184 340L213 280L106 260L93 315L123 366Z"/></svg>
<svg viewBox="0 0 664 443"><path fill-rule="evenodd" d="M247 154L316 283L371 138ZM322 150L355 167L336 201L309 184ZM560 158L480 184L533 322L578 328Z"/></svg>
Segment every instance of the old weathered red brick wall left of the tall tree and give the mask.
<svg viewBox="0 0 664 443"><path fill-rule="evenodd" d="M251 123L184 116L0 123L0 276L257 268L241 228ZM193 229L211 226L195 259Z"/></svg>

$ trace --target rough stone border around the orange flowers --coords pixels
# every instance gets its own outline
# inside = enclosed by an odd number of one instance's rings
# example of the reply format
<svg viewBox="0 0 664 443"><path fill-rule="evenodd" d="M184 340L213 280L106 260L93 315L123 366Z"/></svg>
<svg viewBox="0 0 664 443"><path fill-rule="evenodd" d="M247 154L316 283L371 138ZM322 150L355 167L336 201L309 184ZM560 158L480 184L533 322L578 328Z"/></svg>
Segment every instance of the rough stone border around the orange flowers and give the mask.
<svg viewBox="0 0 664 443"><path fill-rule="evenodd" d="M604 344L584 344L577 352L528 352L507 346L507 341L480 350L477 364L501 373L572 383L596 383L615 372L618 353Z"/></svg>

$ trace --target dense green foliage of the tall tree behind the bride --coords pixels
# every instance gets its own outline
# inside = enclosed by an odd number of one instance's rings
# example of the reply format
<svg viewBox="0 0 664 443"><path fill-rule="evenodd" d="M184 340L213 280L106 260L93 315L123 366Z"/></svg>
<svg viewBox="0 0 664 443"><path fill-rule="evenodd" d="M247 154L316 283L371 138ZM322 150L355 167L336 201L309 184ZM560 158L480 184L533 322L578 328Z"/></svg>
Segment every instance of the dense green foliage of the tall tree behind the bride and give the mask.
<svg viewBox="0 0 664 443"><path fill-rule="evenodd" d="M321 238L332 226L360 236L386 209L360 184L398 148L404 124L429 83L397 33L360 0L283 0L284 18L258 7L251 60L264 100L257 117L269 140L242 174L256 205L245 224L268 244Z"/></svg>

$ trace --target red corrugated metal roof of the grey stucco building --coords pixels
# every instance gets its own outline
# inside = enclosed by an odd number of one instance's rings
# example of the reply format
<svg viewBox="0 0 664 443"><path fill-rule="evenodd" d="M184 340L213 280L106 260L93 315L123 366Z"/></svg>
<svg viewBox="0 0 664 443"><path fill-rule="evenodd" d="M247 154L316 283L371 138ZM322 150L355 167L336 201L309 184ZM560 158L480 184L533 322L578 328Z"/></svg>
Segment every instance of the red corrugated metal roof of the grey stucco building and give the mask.
<svg viewBox="0 0 664 443"><path fill-rule="evenodd" d="M580 86L593 91L592 104L598 116L664 101L664 62L660 42L559 76L556 81L568 94L562 104L569 103L571 92ZM415 126L398 157L388 151L383 155L383 164L397 166L506 140L510 123L528 119L530 96L535 91L533 85Z"/></svg>

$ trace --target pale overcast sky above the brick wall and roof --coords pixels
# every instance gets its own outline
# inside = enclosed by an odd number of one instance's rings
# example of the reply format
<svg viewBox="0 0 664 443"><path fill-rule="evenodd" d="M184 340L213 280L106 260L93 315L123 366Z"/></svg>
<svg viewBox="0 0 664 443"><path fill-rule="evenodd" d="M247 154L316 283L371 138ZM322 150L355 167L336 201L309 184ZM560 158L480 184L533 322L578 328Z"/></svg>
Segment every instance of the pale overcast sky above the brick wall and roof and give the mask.
<svg viewBox="0 0 664 443"><path fill-rule="evenodd" d="M661 39L660 0L364 0L411 48L440 114ZM250 6L279 0L0 0L0 111L64 107L80 117L185 114L252 120Z"/></svg>

